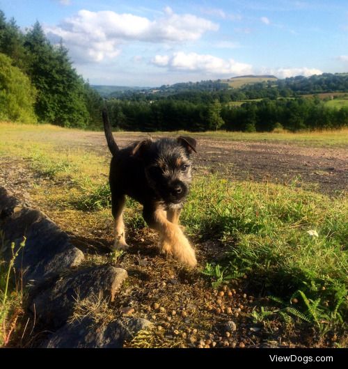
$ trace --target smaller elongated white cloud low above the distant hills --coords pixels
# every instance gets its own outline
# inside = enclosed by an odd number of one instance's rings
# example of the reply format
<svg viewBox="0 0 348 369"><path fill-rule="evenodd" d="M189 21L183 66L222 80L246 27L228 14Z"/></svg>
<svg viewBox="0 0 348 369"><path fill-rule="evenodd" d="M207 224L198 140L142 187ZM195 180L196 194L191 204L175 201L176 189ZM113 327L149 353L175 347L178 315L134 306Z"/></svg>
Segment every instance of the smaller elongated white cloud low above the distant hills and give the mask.
<svg viewBox="0 0 348 369"><path fill-rule="evenodd" d="M233 59L225 60L209 54L175 52L172 56L156 55L152 63L170 70L206 72L209 74L250 74L252 66Z"/></svg>

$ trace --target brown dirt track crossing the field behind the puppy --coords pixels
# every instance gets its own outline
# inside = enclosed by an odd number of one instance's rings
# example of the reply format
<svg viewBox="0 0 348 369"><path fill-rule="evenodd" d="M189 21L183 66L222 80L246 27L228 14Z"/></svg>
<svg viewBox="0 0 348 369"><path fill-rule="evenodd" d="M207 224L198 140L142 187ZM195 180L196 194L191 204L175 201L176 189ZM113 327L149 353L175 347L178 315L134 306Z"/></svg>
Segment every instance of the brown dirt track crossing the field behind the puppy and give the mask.
<svg viewBox="0 0 348 369"><path fill-rule="evenodd" d="M75 133L74 133L75 134ZM120 148L146 137L146 134L114 134ZM154 139L164 135L154 134ZM192 134L192 136L195 136ZM78 146L100 154L107 152L104 135L84 132ZM315 148L296 143L269 141L232 141L197 137L194 157L200 173L221 173L231 180L255 180L290 183L333 195L348 189L347 148Z"/></svg>

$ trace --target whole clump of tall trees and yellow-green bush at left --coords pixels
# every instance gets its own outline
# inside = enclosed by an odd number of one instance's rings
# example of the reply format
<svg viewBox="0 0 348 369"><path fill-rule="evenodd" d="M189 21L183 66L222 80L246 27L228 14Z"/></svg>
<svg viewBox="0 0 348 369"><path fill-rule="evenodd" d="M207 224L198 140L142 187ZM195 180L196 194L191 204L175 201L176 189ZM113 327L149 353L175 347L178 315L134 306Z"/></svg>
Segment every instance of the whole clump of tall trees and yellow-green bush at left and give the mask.
<svg viewBox="0 0 348 369"><path fill-rule="evenodd" d="M0 10L0 119L64 127L101 124L102 98L36 22L22 32Z"/></svg>

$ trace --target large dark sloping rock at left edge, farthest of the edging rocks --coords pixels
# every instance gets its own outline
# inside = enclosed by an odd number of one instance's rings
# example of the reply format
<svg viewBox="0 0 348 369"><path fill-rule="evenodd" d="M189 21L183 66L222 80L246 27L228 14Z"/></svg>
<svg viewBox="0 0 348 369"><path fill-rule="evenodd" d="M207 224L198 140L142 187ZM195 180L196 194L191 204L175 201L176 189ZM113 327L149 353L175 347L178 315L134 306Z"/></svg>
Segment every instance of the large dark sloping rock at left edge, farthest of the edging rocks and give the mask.
<svg viewBox="0 0 348 369"><path fill-rule="evenodd" d="M38 210L26 207L0 187L0 227L5 235L1 253L5 260L12 256L11 242L16 246L26 236L26 244L15 260L15 268L23 273L24 283L39 285L45 280L76 267L84 253L72 246L69 237Z"/></svg>

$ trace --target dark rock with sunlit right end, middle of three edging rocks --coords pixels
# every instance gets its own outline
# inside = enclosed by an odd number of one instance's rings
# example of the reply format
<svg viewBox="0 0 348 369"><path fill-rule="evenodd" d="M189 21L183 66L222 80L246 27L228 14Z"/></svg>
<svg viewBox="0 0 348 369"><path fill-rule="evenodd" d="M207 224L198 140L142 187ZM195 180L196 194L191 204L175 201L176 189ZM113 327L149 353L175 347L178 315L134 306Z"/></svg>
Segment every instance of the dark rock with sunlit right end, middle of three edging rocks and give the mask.
<svg viewBox="0 0 348 369"><path fill-rule="evenodd" d="M63 276L31 301L30 309L48 327L59 328L74 311L77 299L96 296L115 296L122 281L127 278L125 269L102 265L81 269Z"/></svg>

